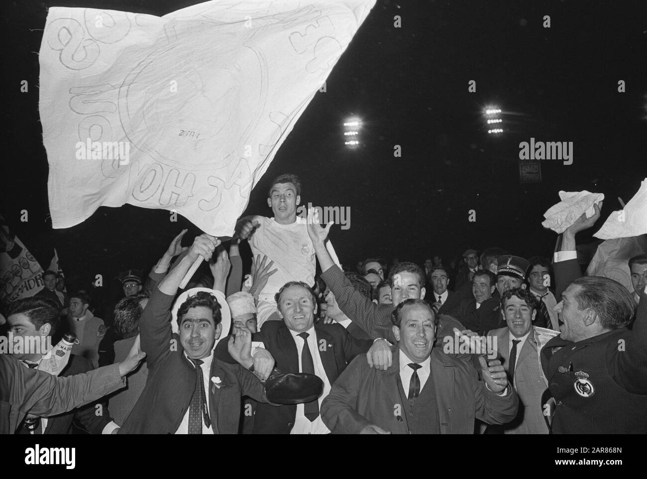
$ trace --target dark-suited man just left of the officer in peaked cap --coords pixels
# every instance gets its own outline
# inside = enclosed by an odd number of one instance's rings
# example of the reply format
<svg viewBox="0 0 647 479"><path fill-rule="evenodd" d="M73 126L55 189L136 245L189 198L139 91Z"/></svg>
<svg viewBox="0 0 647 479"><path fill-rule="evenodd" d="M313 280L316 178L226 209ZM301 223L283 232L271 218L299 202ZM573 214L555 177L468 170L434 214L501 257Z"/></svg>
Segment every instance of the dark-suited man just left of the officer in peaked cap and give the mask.
<svg viewBox="0 0 647 479"><path fill-rule="evenodd" d="M502 326L499 298L492 297L496 289L495 281L496 276L490 271L479 270L474 273L472 297L461 300L448 314L457 318L465 326L464 329L470 329L479 335Z"/></svg>

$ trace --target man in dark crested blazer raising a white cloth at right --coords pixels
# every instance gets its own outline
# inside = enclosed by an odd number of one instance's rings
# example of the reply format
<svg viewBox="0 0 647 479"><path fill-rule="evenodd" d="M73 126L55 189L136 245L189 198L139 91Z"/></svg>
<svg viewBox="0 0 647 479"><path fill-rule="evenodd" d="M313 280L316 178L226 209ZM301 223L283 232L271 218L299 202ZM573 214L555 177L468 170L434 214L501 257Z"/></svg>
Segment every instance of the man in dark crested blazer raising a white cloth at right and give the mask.
<svg viewBox="0 0 647 479"><path fill-rule="evenodd" d="M619 283L580 278L575 235L600 217L594 205L564 231L555 253L555 306L561 335L542 348L542 368L557 406L554 434L647 433L647 292L635 302Z"/></svg>

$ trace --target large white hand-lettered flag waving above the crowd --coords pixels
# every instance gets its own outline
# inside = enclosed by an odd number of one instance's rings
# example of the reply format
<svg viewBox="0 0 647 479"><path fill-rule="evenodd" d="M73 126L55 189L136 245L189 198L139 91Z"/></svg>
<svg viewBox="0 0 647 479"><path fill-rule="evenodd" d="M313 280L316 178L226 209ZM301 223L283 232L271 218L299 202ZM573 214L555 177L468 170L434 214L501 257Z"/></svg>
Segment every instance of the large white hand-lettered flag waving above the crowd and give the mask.
<svg viewBox="0 0 647 479"><path fill-rule="evenodd" d="M232 234L374 4L223 0L163 17L50 8L39 111L54 228L130 203Z"/></svg>

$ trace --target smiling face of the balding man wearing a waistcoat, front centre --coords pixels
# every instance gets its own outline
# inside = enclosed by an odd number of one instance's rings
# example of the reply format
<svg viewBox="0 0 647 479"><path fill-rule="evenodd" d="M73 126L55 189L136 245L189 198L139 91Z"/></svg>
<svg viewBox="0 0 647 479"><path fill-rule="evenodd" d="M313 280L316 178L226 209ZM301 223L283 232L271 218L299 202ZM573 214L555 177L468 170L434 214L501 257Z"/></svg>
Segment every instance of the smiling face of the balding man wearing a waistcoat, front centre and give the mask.
<svg viewBox="0 0 647 479"><path fill-rule="evenodd" d="M413 362L420 363L432 353L435 327L430 307L405 306L400 328L393 326L393 335L400 350Z"/></svg>

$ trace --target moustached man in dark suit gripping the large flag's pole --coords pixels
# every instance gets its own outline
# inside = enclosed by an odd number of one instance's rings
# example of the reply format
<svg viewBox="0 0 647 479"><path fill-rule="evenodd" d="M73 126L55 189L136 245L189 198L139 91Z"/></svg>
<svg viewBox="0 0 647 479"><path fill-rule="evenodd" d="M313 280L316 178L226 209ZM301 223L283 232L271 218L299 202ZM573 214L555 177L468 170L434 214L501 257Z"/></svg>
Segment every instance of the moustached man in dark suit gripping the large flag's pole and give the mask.
<svg viewBox="0 0 647 479"><path fill-rule="evenodd" d="M274 359L267 351L252 359L251 342L242 340L245 334L249 338L247 331L239 331L235 342L230 339L229 348L245 368L214 357L224 307L215 295L200 291L190 296L177 313L179 332L172 333L170 308L182 278L199 256L211 258L219 244L207 234L195 238L188 254L160 282L144 309L139 329L148 379L120 433L236 434L241 395L267 401L263 384L246 368L267 371L271 363L271 370Z"/></svg>

